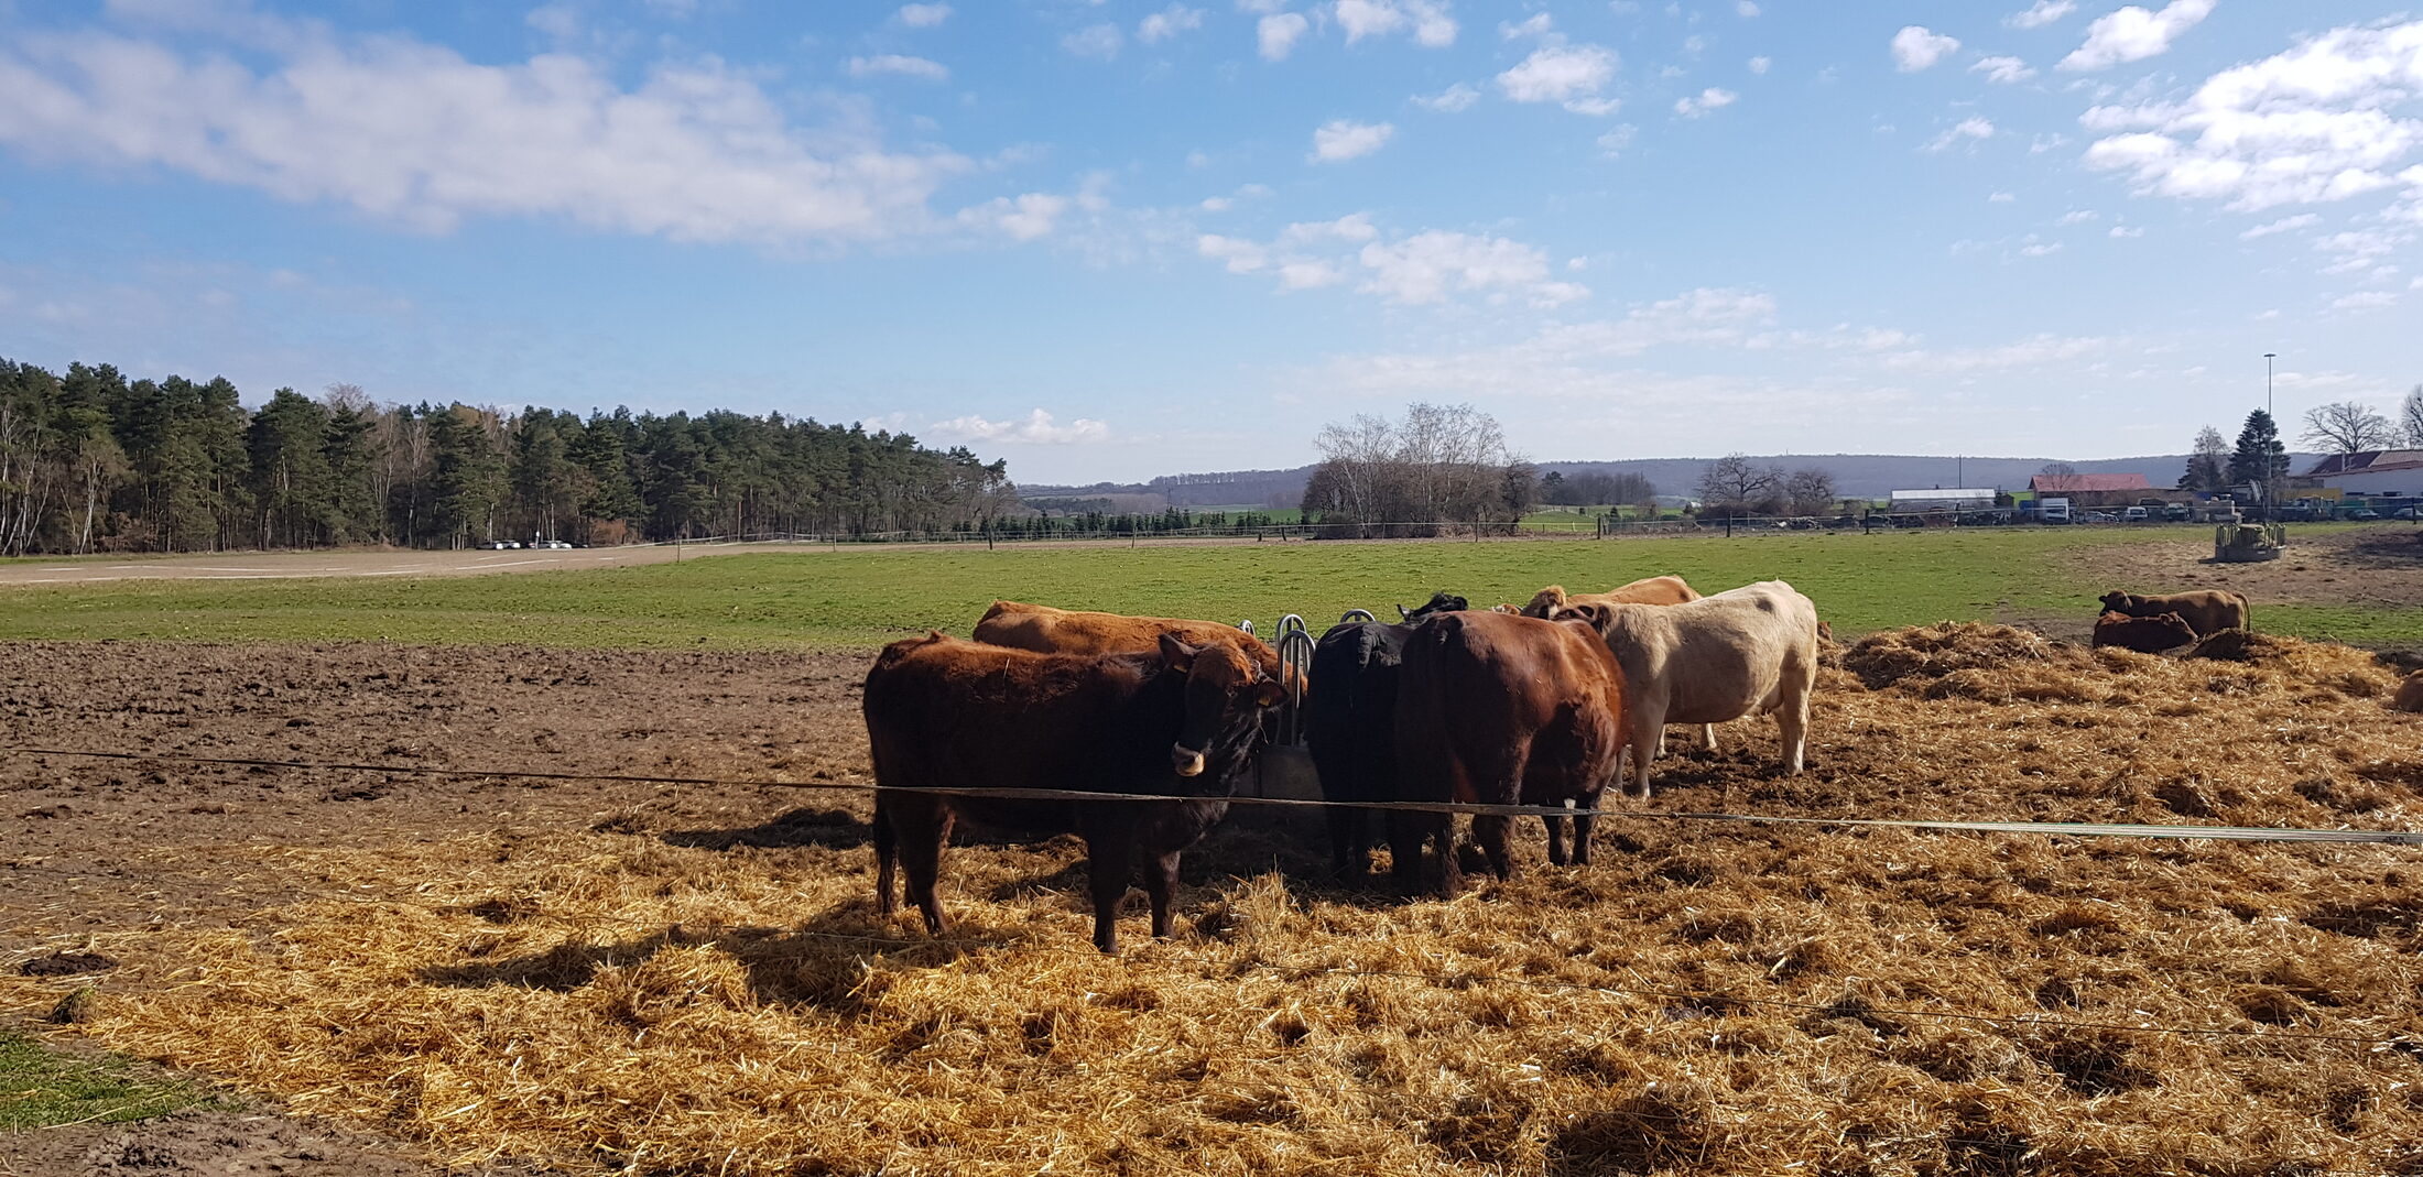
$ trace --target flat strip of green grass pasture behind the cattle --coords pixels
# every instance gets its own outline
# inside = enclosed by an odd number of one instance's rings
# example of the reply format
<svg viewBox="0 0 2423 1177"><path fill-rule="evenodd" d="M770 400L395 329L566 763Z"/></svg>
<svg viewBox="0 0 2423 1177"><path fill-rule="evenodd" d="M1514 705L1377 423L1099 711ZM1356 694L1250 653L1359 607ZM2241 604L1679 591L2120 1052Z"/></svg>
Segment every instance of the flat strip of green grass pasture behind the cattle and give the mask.
<svg viewBox="0 0 2423 1177"><path fill-rule="evenodd" d="M2321 528L2312 528L2321 530ZM2309 533L2312 533L2309 530ZM1936 620L2084 627L2096 550L2183 542L2176 528L1977 528L1640 540L1236 542L1190 547L838 547L632 569L460 579L111 581L0 588L0 637L475 642L543 647L872 647L964 635L993 598L1180 618L1284 613L1321 630L1347 608L1393 618L1434 588L1476 605L1543 584L1597 591L1682 574L1701 591L1786 579L1837 635ZM2181 584L2130 584L2169 591ZM2416 605L2261 605L2263 630L2360 644L2423 642Z"/></svg>

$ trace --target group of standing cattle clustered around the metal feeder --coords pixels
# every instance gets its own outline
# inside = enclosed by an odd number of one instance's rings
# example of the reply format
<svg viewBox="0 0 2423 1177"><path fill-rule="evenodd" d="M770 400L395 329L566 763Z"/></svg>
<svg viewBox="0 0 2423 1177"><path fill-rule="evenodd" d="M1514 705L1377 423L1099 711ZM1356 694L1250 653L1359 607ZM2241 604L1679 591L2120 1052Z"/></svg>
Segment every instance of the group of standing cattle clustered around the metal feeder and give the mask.
<svg viewBox="0 0 2423 1177"><path fill-rule="evenodd" d="M1117 949L1115 911L1141 865L1153 935L1168 935L1178 855L1226 814L1272 710L1296 693L1325 797L1573 804L1570 819L1546 819L1560 865L1568 821L1570 857L1589 862L1592 814L1626 753L1648 797L1665 724L1701 724L1713 748L1713 724L1776 714L1786 773L1803 765L1822 625L1783 581L1715 596L1677 576L1609 593L1551 586L1519 610L1439 593L1400 613L1330 627L1304 671L1219 622L1015 601L996 601L972 642L930 632L884 647L865 683L880 908L892 911L904 867L909 901L943 932L935 877L967 819L1083 836L1102 952ZM1369 811L1328 814L1337 869L1364 872ZM1500 879L1510 823L1473 819ZM1408 894L1425 889L1425 845L1437 845L1434 889L1461 886L1449 814L1386 809L1386 836Z"/></svg>

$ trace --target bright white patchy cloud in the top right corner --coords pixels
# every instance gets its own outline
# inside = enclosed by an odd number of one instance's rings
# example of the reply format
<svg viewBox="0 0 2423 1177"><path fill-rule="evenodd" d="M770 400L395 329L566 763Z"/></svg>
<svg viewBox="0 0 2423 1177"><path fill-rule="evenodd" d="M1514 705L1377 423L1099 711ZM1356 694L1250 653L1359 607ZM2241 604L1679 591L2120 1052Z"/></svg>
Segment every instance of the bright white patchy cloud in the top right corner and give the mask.
<svg viewBox="0 0 2423 1177"><path fill-rule="evenodd" d="M2392 109L2418 90L2423 22L2348 27L2215 73L2186 102L2093 107L2079 124L2106 133L2086 165L2127 172L2140 194L2261 211L2396 184L2423 124Z"/></svg>

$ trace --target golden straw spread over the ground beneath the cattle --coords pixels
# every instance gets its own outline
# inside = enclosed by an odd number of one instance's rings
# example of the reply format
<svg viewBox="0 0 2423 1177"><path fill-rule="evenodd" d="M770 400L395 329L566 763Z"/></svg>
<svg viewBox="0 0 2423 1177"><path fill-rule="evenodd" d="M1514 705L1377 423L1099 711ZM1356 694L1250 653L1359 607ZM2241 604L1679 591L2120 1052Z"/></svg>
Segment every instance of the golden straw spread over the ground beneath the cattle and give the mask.
<svg viewBox="0 0 2423 1177"><path fill-rule="evenodd" d="M1645 814L2423 823L2423 729L2353 649L1963 625L1829 661L1810 773L1742 722ZM75 1029L458 1160L628 1172L2423 1172L2418 850L1645 814L1587 869L1526 823L1519 877L1447 903L1236 816L1182 932L1119 959L1071 838L950 850L964 942L875 918L863 806L717 848L645 814L242 848L322 898L99 937L126 969Z"/></svg>

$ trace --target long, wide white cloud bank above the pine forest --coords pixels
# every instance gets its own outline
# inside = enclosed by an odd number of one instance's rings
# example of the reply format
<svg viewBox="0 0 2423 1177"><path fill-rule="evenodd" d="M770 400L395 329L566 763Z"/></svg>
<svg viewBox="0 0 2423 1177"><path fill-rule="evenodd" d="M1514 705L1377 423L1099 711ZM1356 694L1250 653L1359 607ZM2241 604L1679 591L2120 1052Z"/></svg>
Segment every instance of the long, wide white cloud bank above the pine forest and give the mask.
<svg viewBox="0 0 2423 1177"><path fill-rule="evenodd" d="M562 53L487 65L400 34L257 19L279 44L252 46L252 63L111 34L0 41L0 143L422 230L552 216L751 242L923 232L938 228L933 191L972 170L850 126L795 126L751 75L712 61L659 65L625 90Z"/></svg>

